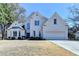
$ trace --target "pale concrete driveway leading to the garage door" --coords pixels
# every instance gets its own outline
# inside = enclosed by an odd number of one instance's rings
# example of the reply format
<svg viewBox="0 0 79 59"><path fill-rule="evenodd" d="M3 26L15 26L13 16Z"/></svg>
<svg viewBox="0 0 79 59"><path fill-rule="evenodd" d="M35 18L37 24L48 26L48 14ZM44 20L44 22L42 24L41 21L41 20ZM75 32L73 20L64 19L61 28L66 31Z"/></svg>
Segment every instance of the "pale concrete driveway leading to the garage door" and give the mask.
<svg viewBox="0 0 79 59"><path fill-rule="evenodd" d="M54 40L51 42L71 51L74 54L79 55L79 41Z"/></svg>

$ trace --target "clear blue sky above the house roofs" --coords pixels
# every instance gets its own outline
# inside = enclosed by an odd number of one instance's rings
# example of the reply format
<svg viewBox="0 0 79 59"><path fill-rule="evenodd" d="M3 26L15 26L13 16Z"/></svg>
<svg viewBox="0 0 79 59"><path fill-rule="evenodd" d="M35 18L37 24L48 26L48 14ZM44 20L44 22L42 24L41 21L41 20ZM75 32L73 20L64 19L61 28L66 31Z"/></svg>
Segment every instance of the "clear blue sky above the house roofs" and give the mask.
<svg viewBox="0 0 79 59"><path fill-rule="evenodd" d="M78 7L79 4L73 3L21 3L20 6L26 9L26 17L32 12L38 11L47 18L50 18L55 12L57 12L63 19L67 19L71 15L69 8L72 6ZM70 25L73 25L69 21Z"/></svg>

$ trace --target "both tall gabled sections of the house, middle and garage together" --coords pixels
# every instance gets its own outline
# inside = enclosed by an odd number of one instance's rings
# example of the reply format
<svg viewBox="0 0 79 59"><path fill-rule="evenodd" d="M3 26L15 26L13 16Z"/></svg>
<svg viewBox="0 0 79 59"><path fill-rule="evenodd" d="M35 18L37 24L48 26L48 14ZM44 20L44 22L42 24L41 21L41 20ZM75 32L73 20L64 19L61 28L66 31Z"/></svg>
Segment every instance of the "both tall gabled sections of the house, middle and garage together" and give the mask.
<svg viewBox="0 0 79 59"><path fill-rule="evenodd" d="M26 20L25 29L27 37L68 39L68 25L57 13L47 19L39 12L33 12Z"/></svg>

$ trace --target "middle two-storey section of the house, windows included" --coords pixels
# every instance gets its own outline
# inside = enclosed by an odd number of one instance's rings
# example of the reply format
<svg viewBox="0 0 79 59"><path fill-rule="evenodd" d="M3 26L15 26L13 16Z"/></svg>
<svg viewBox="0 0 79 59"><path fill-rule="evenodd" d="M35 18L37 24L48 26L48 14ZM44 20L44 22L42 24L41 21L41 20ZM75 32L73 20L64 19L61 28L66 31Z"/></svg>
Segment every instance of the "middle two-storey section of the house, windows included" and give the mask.
<svg viewBox="0 0 79 59"><path fill-rule="evenodd" d="M39 12L33 12L26 20L27 37L42 37L43 24L47 18L42 16Z"/></svg>

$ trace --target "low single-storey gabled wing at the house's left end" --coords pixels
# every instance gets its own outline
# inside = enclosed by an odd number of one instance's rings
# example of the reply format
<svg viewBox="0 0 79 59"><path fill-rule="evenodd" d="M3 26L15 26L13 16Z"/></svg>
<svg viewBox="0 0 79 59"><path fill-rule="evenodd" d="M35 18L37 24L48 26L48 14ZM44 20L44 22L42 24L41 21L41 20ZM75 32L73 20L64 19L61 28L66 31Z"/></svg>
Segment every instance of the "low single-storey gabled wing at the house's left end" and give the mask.
<svg viewBox="0 0 79 59"><path fill-rule="evenodd" d="M25 29L17 21L15 21L7 29L7 38L18 39L23 37L25 37Z"/></svg>

